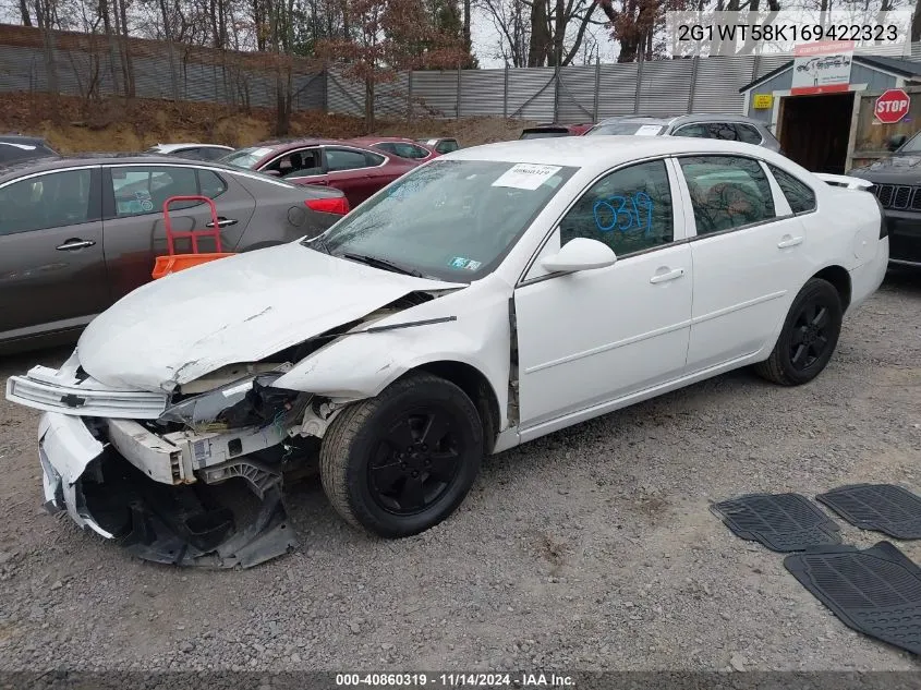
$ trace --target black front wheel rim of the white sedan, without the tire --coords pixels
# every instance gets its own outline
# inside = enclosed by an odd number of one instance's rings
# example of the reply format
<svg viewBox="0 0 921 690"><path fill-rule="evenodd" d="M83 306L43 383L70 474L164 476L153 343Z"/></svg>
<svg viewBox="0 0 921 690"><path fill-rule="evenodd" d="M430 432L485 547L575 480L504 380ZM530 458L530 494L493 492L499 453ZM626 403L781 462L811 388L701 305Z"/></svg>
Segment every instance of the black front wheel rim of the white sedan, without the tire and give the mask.
<svg viewBox="0 0 921 690"><path fill-rule="evenodd" d="M375 503L397 516L411 516L436 503L458 476L460 436L439 408L401 415L384 433L368 463Z"/></svg>

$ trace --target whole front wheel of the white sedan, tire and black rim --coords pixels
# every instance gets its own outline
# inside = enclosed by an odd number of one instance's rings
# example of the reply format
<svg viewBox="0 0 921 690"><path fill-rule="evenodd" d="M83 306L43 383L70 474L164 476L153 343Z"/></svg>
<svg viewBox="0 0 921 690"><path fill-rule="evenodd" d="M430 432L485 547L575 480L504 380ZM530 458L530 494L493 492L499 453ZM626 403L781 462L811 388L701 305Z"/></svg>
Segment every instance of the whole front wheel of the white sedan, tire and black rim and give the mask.
<svg viewBox="0 0 921 690"><path fill-rule="evenodd" d="M450 516L482 458L483 425L466 394L413 373L332 421L320 447L320 479L348 522L398 538Z"/></svg>

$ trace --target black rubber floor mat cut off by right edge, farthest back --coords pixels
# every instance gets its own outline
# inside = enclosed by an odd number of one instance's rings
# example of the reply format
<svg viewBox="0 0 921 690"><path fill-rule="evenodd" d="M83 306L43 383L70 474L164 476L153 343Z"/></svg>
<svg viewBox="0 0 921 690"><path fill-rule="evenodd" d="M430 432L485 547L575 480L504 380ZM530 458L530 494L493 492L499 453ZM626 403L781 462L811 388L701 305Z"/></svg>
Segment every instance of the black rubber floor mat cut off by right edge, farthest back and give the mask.
<svg viewBox="0 0 921 690"><path fill-rule="evenodd" d="M841 486L816 500L861 530L897 540L921 540L921 497L894 484Z"/></svg>

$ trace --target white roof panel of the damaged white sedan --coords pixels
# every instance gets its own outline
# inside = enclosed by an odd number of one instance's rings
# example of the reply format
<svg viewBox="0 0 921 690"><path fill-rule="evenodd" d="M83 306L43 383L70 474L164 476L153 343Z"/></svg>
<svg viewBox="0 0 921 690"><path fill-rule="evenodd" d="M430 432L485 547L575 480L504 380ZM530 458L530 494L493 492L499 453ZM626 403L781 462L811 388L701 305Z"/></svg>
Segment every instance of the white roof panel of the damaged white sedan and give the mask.
<svg viewBox="0 0 921 690"><path fill-rule="evenodd" d="M761 146L722 140L680 136L560 136L484 144L447 154L445 158L572 166L601 173L611 166L652 156L707 153L749 154L771 161L779 156Z"/></svg>

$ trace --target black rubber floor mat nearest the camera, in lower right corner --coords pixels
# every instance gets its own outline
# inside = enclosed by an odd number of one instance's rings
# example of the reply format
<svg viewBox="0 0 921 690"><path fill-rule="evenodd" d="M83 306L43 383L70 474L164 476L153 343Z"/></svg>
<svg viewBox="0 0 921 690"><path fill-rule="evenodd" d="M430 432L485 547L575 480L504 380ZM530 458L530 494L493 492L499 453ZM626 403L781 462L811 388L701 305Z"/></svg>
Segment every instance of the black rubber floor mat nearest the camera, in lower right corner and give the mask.
<svg viewBox="0 0 921 690"><path fill-rule="evenodd" d="M921 654L921 568L889 542L792 554L784 566L849 628Z"/></svg>

